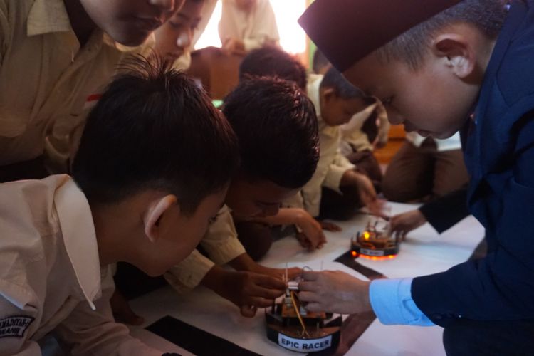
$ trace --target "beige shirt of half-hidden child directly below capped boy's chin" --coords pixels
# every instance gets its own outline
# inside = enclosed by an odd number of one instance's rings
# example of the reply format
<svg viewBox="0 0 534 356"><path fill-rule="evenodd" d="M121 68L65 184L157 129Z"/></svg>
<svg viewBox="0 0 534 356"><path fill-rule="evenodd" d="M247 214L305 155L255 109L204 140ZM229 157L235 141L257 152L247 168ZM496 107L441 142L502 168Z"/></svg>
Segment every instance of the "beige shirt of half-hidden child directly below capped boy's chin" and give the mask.
<svg viewBox="0 0 534 356"><path fill-rule="evenodd" d="M362 132L362 126L367 118L377 110L377 120L379 120L378 137L377 140L382 145L387 143L387 135L389 133L389 121L387 120L387 112L384 105L378 100L375 104L369 105L364 110L357 112L352 119L345 125L340 126L341 131L341 153L346 156L352 152L360 152L363 150L374 150L373 142L369 142L365 132Z"/></svg>

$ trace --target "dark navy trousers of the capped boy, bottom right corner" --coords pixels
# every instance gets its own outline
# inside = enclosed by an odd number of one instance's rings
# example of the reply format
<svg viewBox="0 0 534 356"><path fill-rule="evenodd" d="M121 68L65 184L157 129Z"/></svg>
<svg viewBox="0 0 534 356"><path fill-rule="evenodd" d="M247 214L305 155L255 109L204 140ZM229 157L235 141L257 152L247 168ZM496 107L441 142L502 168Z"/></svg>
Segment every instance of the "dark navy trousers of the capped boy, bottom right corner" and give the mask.
<svg viewBox="0 0 534 356"><path fill-rule="evenodd" d="M534 320L459 320L445 328L448 356L534 355Z"/></svg>

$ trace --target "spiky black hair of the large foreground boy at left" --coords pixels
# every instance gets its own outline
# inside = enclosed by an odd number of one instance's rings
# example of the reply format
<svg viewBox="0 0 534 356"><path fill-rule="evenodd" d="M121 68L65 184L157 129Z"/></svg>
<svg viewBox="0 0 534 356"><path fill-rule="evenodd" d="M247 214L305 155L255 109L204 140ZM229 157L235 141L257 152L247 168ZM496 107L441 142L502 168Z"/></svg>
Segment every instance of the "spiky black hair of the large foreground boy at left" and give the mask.
<svg viewBox="0 0 534 356"><path fill-rule="evenodd" d="M145 189L175 194L184 214L223 189L239 165L226 118L184 73L132 58L88 116L73 178L88 201Z"/></svg>

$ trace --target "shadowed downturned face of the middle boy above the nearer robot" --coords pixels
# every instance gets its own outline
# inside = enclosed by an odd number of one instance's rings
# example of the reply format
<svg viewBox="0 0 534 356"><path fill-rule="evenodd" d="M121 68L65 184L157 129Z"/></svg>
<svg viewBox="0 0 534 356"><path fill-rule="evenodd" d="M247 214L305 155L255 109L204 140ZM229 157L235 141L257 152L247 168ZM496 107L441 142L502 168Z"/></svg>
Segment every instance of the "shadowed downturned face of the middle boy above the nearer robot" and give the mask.
<svg viewBox="0 0 534 356"><path fill-rule="evenodd" d="M241 218L273 216L278 214L282 201L293 197L298 190L265 179L251 182L239 176L232 180L225 202L232 214Z"/></svg>

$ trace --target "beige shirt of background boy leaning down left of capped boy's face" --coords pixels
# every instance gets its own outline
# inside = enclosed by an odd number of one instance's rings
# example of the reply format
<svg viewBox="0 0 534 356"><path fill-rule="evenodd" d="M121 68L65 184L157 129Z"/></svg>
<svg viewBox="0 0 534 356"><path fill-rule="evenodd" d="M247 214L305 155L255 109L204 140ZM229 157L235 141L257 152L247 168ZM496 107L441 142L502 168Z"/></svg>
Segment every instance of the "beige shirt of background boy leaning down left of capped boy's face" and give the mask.
<svg viewBox="0 0 534 356"><path fill-rule="evenodd" d="M319 87L323 75L310 75L308 78L308 97L312 100L317 112L319 124L320 158L317 170L312 179L302 189L304 209L311 216L318 216L320 209L321 187L327 187L340 192L342 175L349 169L354 169L340 152L341 133L338 126L328 126L320 115ZM341 193L341 192L340 192Z"/></svg>

